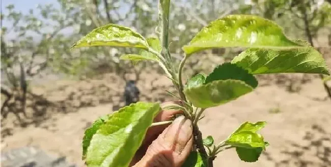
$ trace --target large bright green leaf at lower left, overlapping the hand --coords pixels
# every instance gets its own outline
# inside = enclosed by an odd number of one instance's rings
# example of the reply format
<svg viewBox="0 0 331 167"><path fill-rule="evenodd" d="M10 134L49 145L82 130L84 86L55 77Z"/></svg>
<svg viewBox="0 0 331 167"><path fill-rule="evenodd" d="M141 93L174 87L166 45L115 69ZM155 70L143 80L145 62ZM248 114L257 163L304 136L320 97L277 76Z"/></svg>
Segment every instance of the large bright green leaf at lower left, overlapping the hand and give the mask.
<svg viewBox="0 0 331 167"><path fill-rule="evenodd" d="M160 111L158 103L138 102L109 115L87 149L89 167L127 167Z"/></svg>

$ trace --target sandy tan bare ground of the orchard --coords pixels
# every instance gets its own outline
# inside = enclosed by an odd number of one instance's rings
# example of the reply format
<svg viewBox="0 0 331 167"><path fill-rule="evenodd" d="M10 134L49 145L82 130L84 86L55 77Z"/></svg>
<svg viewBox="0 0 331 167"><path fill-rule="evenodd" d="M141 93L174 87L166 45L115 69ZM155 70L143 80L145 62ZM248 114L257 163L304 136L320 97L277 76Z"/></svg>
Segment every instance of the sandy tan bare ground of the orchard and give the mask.
<svg viewBox="0 0 331 167"><path fill-rule="evenodd" d="M331 101L323 99L326 93L321 80L316 75L307 75L307 81L298 83L302 75L282 76L260 78L256 91L205 112L200 129L204 136L214 136L216 142L225 139L244 121L265 120L268 123L261 133L270 146L258 162L242 162L235 150L227 150L219 154L214 166L331 166ZM150 85L169 87L171 83L166 77L151 73L141 80L144 80L139 83L144 92L142 101L171 100L162 89L150 88ZM2 151L35 145L49 153L65 155L68 161L83 166L80 159L84 131L99 116L122 105L120 93L124 83L116 77L106 77L79 83L59 81L56 85L57 88L36 87L34 92L44 94L51 101L79 103L76 104L77 111L49 112L43 115L43 119L30 121L26 127L16 126L15 117L9 115L2 120ZM114 91L107 96L96 93L99 89ZM95 92L89 93L92 90ZM103 100L96 99L99 96ZM89 104L82 104L82 101Z"/></svg>

